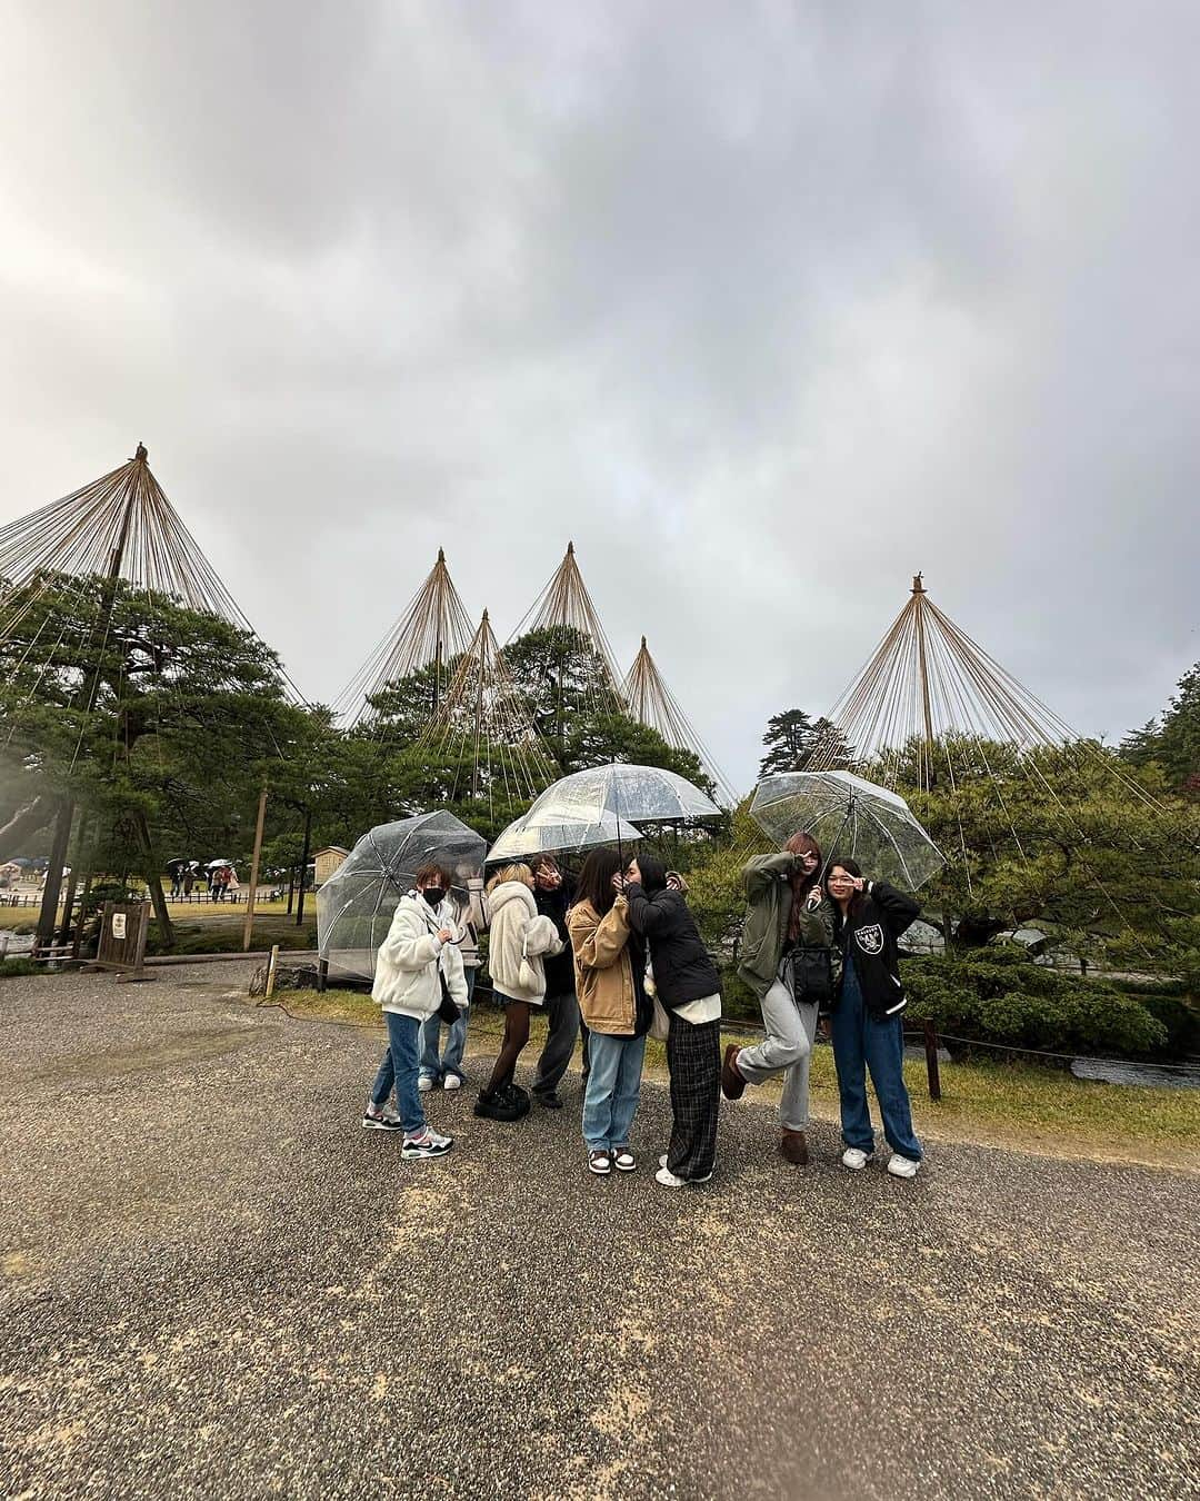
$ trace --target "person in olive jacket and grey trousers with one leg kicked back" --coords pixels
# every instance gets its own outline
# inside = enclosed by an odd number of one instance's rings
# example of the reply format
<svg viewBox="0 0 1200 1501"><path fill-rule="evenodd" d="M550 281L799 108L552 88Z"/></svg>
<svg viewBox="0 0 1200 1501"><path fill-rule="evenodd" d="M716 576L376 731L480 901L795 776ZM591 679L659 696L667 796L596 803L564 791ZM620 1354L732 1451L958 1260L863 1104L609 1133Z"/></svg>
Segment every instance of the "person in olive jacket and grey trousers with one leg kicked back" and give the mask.
<svg viewBox="0 0 1200 1501"><path fill-rule="evenodd" d="M722 1090L736 1100L747 1084L782 1073L778 1150L802 1168L808 1162L808 1066L820 998L795 994L796 971L789 958L795 949L828 953L832 946L834 910L820 889L820 848L810 835L792 835L778 854L750 860L742 880L747 910L738 976L758 997L766 1036L753 1048L730 1043L724 1049Z"/></svg>

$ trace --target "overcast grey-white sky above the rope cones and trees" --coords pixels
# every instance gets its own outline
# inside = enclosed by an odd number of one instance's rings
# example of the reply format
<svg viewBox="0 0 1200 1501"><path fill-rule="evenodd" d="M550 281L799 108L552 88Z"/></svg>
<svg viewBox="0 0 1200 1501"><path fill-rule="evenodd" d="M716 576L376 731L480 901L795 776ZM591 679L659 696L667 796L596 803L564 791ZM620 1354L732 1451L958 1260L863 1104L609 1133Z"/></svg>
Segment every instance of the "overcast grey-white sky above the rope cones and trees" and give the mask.
<svg viewBox="0 0 1200 1501"><path fill-rule="evenodd" d="M0 521L144 440L310 698L568 537L738 785L916 569L1083 732L1200 657L1194 0L0 21Z"/></svg>

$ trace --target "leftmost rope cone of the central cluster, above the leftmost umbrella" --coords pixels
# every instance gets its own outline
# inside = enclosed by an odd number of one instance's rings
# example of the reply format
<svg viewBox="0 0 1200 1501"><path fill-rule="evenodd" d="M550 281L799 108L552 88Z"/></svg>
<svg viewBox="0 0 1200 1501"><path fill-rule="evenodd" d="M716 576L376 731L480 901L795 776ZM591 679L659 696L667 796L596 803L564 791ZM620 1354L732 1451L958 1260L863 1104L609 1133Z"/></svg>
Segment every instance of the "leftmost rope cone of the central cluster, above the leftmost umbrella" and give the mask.
<svg viewBox="0 0 1200 1501"><path fill-rule="evenodd" d="M408 602L393 629L375 647L360 671L338 698L336 710L348 725L374 716L369 699L396 683L434 665L432 713L450 686L454 662L472 636L471 621L438 548L438 561Z"/></svg>

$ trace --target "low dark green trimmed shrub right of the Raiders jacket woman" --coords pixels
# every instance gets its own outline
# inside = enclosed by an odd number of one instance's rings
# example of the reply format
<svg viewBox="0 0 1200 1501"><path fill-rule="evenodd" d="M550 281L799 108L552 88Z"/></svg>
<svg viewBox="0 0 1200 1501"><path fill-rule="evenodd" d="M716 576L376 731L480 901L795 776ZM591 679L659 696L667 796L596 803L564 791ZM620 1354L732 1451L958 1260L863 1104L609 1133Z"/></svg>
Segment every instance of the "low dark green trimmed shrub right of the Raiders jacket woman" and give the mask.
<svg viewBox="0 0 1200 1501"><path fill-rule="evenodd" d="M1149 998L1030 964L1020 949L908 959L903 974L908 1016L956 1037L1134 1057L1162 1054L1172 1043Z"/></svg>

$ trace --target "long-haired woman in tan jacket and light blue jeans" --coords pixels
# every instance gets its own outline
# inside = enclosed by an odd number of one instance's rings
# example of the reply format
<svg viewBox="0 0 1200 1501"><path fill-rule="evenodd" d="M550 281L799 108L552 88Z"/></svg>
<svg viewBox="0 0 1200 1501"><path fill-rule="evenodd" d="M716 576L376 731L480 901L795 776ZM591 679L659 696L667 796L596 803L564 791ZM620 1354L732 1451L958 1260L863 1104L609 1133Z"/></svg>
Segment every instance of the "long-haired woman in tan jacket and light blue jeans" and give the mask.
<svg viewBox="0 0 1200 1501"><path fill-rule="evenodd" d="M652 1006L645 994L645 950L628 926L620 895L622 860L615 850L592 850L579 875L579 895L567 913L574 955L574 989L591 1033L591 1069L584 1096L584 1142L596 1174L633 1172L628 1150L642 1094L642 1058Z"/></svg>

